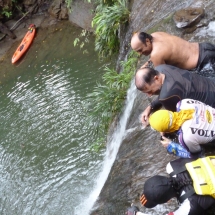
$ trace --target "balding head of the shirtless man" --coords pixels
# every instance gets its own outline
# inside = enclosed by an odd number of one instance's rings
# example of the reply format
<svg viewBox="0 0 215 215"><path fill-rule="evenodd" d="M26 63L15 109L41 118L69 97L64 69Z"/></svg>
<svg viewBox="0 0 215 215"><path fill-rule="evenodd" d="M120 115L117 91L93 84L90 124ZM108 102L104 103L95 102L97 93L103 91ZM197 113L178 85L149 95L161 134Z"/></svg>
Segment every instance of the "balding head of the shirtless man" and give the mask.
<svg viewBox="0 0 215 215"><path fill-rule="evenodd" d="M152 36L145 32L137 32L131 38L131 48L140 55L150 55L152 52Z"/></svg>

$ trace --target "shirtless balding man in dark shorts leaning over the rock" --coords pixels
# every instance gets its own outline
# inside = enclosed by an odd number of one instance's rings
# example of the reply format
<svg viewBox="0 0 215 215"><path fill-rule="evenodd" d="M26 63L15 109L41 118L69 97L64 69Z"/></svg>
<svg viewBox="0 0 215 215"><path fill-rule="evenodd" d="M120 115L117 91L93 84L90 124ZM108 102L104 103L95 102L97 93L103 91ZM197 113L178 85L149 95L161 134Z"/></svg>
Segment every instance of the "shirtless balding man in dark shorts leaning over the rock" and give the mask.
<svg viewBox="0 0 215 215"><path fill-rule="evenodd" d="M215 46L210 43L191 43L165 32L137 32L131 48L140 55L150 55L154 66L169 64L181 69L201 70L209 60L215 63ZM142 67L146 66L145 63Z"/></svg>

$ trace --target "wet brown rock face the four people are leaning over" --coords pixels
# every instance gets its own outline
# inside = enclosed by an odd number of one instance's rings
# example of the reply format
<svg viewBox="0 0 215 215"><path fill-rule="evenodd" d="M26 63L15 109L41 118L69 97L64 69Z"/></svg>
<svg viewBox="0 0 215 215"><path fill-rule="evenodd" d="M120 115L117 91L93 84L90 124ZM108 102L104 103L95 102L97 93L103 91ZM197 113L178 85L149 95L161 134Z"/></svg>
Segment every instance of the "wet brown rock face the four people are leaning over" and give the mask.
<svg viewBox="0 0 215 215"><path fill-rule="evenodd" d="M121 41L119 59L126 60L126 54L130 51L130 39L134 31L165 31L191 42L211 42L215 44L214 25L211 22L213 21L212 17L215 17L214 0L204 1L204 7L201 1L201 5L194 5L194 1L133 0L129 27L127 32L122 33L124 38ZM187 15L189 15L187 25L182 28L176 28L172 14L182 8L187 10L190 5L192 5L192 10L189 13L186 11ZM203 14L205 14L204 19L201 19ZM182 18L185 15L181 13ZM167 17L170 18L165 20ZM199 18L200 21L198 20ZM161 22L162 19L164 20L163 22ZM210 27L210 24L207 27L200 25L203 20L206 23L205 25L210 23L212 27ZM179 21L182 22L182 19ZM157 24L159 26L156 26ZM195 28L196 31L184 33L184 29L191 30L192 28ZM147 59L147 57L141 57L142 62L138 64L137 69ZM153 132L150 127L146 129L139 127L140 114L148 104L148 99L144 97L143 93L139 92L127 123L125 138L121 143L117 158L94 205L94 209L91 211L91 215L122 215L125 214L126 208L131 203L139 206L142 212L150 215L168 214L169 211L176 209L176 202L160 205L154 209L146 209L141 207L139 203L139 196L146 179L156 174L165 175L166 164L170 160L176 159L176 157L168 155L161 146L159 133ZM215 154L214 146L213 149L210 149L210 152L213 155ZM215 207L207 212L210 215L214 215L214 211Z"/></svg>

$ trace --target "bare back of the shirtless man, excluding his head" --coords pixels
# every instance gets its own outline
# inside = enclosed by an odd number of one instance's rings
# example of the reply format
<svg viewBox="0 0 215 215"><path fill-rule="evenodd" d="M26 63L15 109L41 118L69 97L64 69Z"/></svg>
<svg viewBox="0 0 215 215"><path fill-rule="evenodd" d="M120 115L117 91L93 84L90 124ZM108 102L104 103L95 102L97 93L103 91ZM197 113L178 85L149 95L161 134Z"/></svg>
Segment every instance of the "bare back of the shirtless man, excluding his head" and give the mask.
<svg viewBox="0 0 215 215"><path fill-rule="evenodd" d="M190 43L164 32L156 32L151 35L153 40L150 59L155 66L165 63L188 70L197 66L198 43Z"/></svg>

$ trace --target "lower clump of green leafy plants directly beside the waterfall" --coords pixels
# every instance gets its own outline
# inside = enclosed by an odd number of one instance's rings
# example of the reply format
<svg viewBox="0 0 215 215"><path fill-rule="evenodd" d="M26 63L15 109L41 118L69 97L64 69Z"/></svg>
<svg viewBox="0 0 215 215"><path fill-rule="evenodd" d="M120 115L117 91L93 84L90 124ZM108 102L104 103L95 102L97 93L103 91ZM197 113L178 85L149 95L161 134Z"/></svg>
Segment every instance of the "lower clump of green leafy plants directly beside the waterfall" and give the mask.
<svg viewBox="0 0 215 215"><path fill-rule="evenodd" d="M87 109L89 126L93 126L98 137L106 136L108 128L124 107L127 89L136 70L138 55L131 52L126 62L121 62L123 72L117 73L114 69L105 68L102 76L103 83L97 83L93 92L88 95L90 106ZM92 148L103 145L97 141Z"/></svg>

